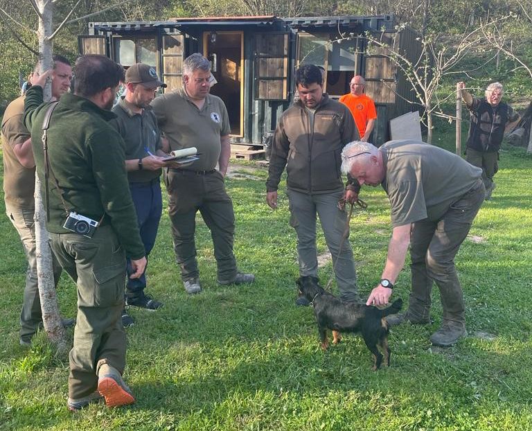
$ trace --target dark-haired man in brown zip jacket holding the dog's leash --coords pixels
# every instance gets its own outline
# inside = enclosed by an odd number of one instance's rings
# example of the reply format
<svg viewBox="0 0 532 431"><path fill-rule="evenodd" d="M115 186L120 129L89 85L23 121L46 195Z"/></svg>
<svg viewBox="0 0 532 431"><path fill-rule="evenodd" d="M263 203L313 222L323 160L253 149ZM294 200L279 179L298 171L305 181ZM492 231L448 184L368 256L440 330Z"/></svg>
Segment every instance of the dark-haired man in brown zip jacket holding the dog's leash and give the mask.
<svg viewBox="0 0 532 431"><path fill-rule="evenodd" d="M277 208L277 187L287 165L290 225L296 229L299 274L317 276L316 213L335 265L336 283L342 299L356 301L357 276L347 238L345 211L338 201L355 202L360 186L348 183L340 172L340 152L346 143L360 139L353 115L346 105L323 93L321 71L305 64L296 71L299 101L288 108L277 125L266 182L266 201ZM296 304L308 305L304 297Z"/></svg>

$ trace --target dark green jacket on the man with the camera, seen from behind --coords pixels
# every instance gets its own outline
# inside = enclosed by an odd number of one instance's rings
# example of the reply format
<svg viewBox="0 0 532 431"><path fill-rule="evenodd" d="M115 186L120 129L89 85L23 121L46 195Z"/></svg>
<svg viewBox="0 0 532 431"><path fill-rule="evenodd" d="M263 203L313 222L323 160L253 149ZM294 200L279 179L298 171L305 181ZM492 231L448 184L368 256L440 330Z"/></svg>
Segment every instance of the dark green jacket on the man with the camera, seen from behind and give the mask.
<svg viewBox="0 0 532 431"><path fill-rule="evenodd" d="M48 110L42 103L42 87L33 86L26 93L24 123L31 131L31 146L45 193L42 123ZM144 256L136 211L125 171L125 143L109 125L115 114L98 107L91 100L64 94L55 107L48 128L48 159L61 190L48 182L50 220L46 228L53 234L71 233L63 227L68 211L76 211L92 220L113 227L129 258Z"/></svg>

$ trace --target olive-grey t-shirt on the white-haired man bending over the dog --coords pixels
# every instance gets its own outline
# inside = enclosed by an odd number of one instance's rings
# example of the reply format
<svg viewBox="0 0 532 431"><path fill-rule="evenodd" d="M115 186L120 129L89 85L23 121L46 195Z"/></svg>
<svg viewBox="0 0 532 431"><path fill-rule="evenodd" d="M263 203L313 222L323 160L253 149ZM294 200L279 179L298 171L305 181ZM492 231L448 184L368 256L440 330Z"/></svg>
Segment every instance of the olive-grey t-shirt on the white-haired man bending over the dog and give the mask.
<svg viewBox="0 0 532 431"><path fill-rule="evenodd" d="M393 227L439 220L482 175L481 168L421 141L388 141L379 150L386 172L382 188L390 200Z"/></svg>

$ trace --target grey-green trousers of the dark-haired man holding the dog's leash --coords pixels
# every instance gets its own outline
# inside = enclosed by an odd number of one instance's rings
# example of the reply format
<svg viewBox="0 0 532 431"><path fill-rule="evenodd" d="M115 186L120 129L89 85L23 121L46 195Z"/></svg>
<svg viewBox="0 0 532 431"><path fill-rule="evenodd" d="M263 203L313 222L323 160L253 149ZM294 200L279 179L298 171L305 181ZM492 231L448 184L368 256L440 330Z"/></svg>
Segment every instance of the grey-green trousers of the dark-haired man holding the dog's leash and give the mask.
<svg viewBox="0 0 532 431"><path fill-rule="evenodd" d="M346 211L340 211L337 204L344 192L308 195L288 190L287 195L290 200L290 226L296 229L297 234L299 274L301 276L318 275L316 248L317 213L327 247L332 256L332 265L335 265L336 284L340 297L346 301L359 299L353 251L348 237L344 240L340 251L342 236L346 228L347 213ZM338 252L340 252L339 256Z"/></svg>

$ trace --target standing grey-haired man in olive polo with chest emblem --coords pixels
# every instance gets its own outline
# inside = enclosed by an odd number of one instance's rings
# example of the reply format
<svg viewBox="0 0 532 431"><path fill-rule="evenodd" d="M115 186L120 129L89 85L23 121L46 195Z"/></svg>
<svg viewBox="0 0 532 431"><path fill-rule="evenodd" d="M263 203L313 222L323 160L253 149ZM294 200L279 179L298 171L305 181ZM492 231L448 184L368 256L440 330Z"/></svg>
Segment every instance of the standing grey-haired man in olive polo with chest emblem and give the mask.
<svg viewBox="0 0 532 431"><path fill-rule="evenodd" d="M175 256L189 294L202 290L194 240L198 210L213 238L218 283L251 283L255 279L253 274L238 271L233 254L235 215L224 185L231 127L222 99L209 94L212 79L211 62L195 53L183 62L183 89L165 93L152 102L172 150L195 147L202 153L190 166L168 169L165 179Z"/></svg>

